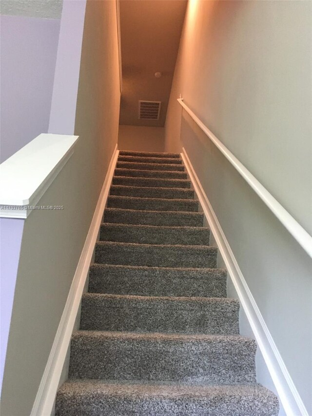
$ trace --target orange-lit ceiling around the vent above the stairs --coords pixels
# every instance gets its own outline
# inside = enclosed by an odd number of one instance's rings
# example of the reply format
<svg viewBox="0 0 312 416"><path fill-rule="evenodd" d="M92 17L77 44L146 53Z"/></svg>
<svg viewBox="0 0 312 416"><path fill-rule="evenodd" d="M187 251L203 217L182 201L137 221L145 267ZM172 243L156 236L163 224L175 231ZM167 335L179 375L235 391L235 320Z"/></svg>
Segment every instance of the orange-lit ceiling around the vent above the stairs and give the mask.
<svg viewBox="0 0 312 416"><path fill-rule="evenodd" d="M164 126L186 5L187 0L120 0L120 124ZM159 120L139 120L138 100L161 101Z"/></svg>

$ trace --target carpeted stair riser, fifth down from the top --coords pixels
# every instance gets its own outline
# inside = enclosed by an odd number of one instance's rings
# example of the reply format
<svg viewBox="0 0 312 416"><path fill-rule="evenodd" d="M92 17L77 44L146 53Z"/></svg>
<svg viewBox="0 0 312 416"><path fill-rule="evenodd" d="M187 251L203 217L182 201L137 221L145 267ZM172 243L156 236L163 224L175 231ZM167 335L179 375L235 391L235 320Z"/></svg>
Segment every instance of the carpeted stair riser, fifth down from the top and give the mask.
<svg viewBox="0 0 312 416"><path fill-rule="evenodd" d="M127 178L114 176L113 185L156 187L156 188L191 188L191 182L185 179L153 179L153 178Z"/></svg>

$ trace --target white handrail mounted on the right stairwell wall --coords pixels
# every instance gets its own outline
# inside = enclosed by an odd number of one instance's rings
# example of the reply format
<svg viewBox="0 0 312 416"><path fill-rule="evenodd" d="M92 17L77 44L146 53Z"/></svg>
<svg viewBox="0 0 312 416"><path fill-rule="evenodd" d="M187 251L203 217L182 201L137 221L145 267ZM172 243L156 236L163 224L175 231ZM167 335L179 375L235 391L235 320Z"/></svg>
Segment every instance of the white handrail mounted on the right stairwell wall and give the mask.
<svg viewBox="0 0 312 416"><path fill-rule="evenodd" d="M293 238L301 245L301 247L312 258L312 237L309 233L290 215L288 211L270 194L270 192L249 172L249 170L230 152L230 150L215 137L205 124L198 119L190 108L184 104L183 99L177 99L179 104L191 116L198 127L206 134L206 136L215 144L220 152L229 160L237 172L246 180L254 192L262 199L268 208L273 212L276 218L290 232Z"/></svg>

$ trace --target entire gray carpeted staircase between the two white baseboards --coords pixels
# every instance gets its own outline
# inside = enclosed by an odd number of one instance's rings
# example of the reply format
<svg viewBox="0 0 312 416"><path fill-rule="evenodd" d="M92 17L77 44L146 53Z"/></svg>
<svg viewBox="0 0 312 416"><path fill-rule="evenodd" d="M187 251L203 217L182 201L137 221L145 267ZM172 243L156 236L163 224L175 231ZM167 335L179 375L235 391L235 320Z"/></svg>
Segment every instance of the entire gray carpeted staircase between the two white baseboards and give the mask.
<svg viewBox="0 0 312 416"><path fill-rule="evenodd" d="M57 416L273 416L178 154L120 152Z"/></svg>

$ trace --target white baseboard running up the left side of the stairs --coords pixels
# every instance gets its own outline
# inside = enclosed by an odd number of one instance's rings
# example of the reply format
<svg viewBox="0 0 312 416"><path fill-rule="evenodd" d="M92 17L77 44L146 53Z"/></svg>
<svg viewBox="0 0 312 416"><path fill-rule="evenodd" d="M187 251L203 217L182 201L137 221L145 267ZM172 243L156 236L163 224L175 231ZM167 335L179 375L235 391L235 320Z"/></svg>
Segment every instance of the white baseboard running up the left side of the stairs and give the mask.
<svg viewBox="0 0 312 416"><path fill-rule="evenodd" d="M68 293L67 301L59 322L59 327L51 348L51 352L41 378L37 396L30 414L31 416L49 416L53 409L61 371L72 336L83 288L88 276L94 246L97 241L98 229L101 224L103 211L111 187L112 178L114 176L118 153L119 151L117 150L116 144L102 190L98 198L98 203L91 221L89 232L78 261L75 276Z"/></svg>

